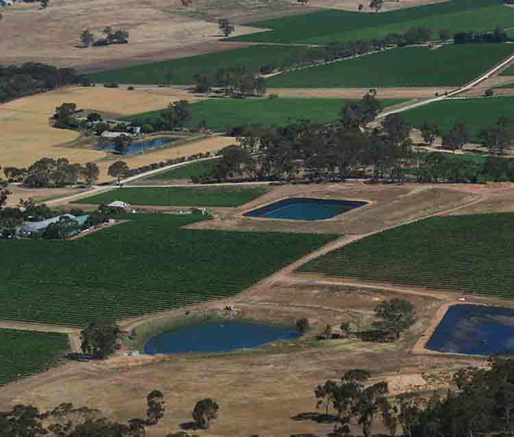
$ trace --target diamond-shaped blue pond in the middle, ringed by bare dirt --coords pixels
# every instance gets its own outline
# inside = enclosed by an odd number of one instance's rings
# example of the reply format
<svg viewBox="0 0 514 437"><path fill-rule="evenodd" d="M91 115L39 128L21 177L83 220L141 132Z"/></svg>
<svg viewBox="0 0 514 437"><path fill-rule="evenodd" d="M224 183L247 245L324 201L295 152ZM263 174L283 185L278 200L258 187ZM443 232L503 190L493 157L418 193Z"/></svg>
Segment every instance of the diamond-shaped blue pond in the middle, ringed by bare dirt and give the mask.
<svg viewBox="0 0 514 437"><path fill-rule="evenodd" d="M245 213L245 217L286 220L327 220L352 209L364 206L357 200L288 198Z"/></svg>

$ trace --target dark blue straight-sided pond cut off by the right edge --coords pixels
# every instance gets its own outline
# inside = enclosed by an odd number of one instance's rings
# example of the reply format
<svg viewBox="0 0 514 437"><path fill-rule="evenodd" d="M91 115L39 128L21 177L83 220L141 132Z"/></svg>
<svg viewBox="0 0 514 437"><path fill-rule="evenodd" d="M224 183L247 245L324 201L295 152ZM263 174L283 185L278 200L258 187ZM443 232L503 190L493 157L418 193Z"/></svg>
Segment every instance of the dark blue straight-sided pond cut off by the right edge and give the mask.
<svg viewBox="0 0 514 437"><path fill-rule="evenodd" d="M514 353L514 309L452 305L430 337L426 349L447 353Z"/></svg>

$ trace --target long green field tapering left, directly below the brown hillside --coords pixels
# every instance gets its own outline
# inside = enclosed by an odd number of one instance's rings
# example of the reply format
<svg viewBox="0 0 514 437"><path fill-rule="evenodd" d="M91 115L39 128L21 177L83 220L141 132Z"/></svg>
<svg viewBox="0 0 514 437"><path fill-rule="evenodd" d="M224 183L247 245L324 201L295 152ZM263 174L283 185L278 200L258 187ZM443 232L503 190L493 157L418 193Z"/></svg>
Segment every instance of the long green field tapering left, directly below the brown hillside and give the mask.
<svg viewBox="0 0 514 437"><path fill-rule="evenodd" d="M173 71L172 84L188 85L195 83L195 75L208 71L214 73L221 67L243 66L252 71L272 64L281 67L288 59L305 54L306 47L254 46L229 51L219 51L207 55L191 56L151 64L134 65L109 71L88 74L97 83L117 84L169 84L168 72Z"/></svg>

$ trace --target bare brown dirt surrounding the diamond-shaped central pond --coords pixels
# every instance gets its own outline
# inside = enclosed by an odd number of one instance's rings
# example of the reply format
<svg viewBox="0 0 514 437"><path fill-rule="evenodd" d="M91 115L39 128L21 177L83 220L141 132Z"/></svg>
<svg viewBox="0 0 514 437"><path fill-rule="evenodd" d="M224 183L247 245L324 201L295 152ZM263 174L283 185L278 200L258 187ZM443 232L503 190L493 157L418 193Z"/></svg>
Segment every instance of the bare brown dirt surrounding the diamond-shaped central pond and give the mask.
<svg viewBox="0 0 514 437"><path fill-rule="evenodd" d="M243 217L257 206L291 197L367 200L372 202L330 220L302 222ZM328 185L285 185L238 209L215 211L215 219L191 225L194 228L241 229L244 231L285 231L302 233L345 233L362 235L419 217L446 211L480 200L476 193L448 189L440 185L369 185L345 182Z"/></svg>

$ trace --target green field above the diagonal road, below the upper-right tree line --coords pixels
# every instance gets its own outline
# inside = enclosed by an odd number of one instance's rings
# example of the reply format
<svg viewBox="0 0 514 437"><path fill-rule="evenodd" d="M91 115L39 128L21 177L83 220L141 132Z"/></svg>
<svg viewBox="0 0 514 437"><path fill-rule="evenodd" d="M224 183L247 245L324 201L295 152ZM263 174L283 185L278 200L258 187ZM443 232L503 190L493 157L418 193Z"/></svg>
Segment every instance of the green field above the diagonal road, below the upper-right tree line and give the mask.
<svg viewBox="0 0 514 437"><path fill-rule="evenodd" d="M268 88L459 86L513 54L510 44L392 49L273 76Z"/></svg>

